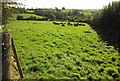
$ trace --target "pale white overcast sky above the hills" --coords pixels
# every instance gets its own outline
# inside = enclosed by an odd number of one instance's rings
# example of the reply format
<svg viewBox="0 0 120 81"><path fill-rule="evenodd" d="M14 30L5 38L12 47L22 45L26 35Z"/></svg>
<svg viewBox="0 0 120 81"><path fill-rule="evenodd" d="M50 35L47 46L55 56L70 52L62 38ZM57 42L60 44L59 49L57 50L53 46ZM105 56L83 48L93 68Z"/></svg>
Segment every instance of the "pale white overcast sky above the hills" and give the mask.
<svg viewBox="0 0 120 81"><path fill-rule="evenodd" d="M101 9L113 0L16 0L27 8ZM119 0L114 0L119 1Z"/></svg>

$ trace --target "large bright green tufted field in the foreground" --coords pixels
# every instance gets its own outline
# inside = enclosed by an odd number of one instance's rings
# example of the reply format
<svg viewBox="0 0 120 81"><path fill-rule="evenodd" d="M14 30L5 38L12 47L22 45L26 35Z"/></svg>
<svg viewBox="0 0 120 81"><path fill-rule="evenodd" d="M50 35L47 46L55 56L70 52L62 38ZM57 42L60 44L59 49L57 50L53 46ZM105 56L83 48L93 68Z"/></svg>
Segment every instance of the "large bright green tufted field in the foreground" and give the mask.
<svg viewBox="0 0 120 81"><path fill-rule="evenodd" d="M25 79L120 79L120 54L88 24L15 20L8 28Z"/></svg>

